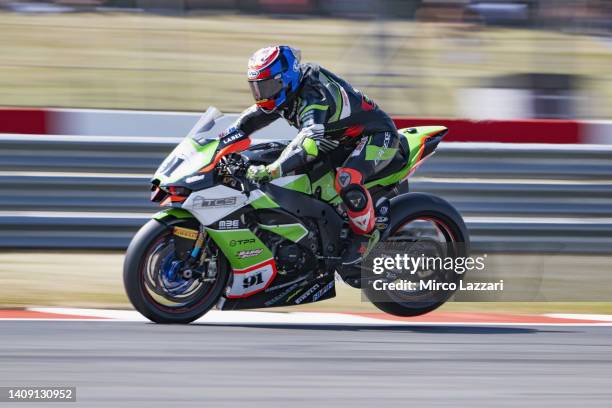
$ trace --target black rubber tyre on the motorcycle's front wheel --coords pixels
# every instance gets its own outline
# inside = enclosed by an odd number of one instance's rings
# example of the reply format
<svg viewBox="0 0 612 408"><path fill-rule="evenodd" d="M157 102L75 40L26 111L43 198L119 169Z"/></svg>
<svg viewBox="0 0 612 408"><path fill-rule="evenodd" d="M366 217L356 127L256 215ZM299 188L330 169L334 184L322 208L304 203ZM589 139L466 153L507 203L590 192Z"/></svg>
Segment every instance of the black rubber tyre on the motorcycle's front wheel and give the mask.
<svg viewBox="0 0 612 408"><path fill-rule="evenodd" d="M134 236L123 263L123 283L130 302L143 316L155 323L190 323L208 312L219 300L227 284L229 268L222 254L218 257L217 279L195 303L171 308L156 302L148 293L143 268L152 247L171 232L171 226L157 220L147 222Z"/></svg>

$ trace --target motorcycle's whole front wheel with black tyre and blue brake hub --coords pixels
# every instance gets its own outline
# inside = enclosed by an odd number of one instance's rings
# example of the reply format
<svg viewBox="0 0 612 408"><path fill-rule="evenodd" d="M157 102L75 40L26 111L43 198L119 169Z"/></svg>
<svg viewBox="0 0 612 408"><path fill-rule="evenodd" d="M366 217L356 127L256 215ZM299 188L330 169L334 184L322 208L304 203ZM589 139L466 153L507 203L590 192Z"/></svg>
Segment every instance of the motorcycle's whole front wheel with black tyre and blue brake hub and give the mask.
<svg viewBox="0 0 612 408"><path fill-rule="evenodd" d="M132 239L123 264L123 283L130 302L156 323L190 323L219 300L228 279L222 254L213 256L206 275L185 273L194 241L173 234L173 226L146 223Z"/></svg>

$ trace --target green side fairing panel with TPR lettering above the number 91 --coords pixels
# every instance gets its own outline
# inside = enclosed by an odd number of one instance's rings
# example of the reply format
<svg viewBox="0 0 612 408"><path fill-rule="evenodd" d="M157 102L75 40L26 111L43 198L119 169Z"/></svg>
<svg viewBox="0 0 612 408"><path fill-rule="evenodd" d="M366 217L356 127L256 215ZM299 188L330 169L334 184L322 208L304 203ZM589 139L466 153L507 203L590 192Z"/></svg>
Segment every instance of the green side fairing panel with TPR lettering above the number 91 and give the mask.
<svg viewBox="0 0 612 408"><path fill-rule="evenodd" d="M249 229L220 231L206 228L206 231L219 246L232 269L245 269L272 258L272 252ZM241 254L244 256L249 253L256 255L241 258Z"/></svg>

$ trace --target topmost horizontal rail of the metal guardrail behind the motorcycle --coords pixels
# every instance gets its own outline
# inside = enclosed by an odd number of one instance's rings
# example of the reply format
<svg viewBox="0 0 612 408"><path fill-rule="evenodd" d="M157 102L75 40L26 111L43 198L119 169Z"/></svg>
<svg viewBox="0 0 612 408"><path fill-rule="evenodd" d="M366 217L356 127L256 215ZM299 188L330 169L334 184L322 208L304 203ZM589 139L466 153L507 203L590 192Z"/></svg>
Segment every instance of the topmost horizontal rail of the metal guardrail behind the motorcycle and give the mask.
<svg viewBox="0 0 612 408"><path fill-rule="evenodd" d="M0 135L0 171L150 173L177 138ZM421 177L610 180L610 145L446 143Z"/></svg>

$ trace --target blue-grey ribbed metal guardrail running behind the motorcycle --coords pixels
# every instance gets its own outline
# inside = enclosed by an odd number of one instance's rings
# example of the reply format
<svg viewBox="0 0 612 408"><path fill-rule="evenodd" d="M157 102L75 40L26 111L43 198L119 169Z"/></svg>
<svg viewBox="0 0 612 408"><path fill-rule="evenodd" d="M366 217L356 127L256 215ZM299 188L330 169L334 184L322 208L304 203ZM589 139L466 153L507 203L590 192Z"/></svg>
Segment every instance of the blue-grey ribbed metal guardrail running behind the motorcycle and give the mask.
<svg viewBox="0 0 612 408"><path fill-rule="evenodd" d="M0 246L124 248L179 139L0 135ZM442 144L411 190L466 217L476 251L612 253L612 147Z"/></svg>

